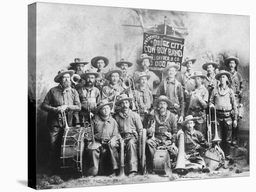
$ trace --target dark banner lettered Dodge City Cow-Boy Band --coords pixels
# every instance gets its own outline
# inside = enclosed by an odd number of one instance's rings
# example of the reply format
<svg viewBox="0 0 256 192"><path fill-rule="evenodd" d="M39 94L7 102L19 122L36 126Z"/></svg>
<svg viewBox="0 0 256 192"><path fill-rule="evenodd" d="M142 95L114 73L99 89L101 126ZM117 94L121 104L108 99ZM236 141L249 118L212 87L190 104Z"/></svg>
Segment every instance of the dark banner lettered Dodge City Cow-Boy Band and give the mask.
<svg viewBox="0 0 256 192"><path fill-rule="evenodd" d="M168 63L181 66L184 50L184 38L144 32L143 53L153 57L150 70L162 70Z"/></svg>

